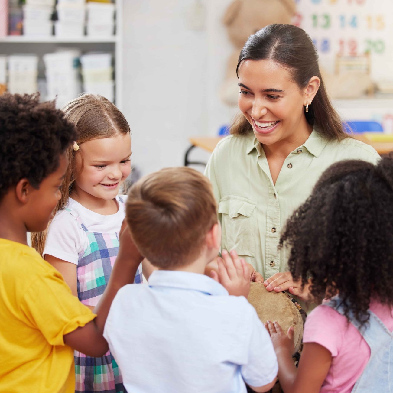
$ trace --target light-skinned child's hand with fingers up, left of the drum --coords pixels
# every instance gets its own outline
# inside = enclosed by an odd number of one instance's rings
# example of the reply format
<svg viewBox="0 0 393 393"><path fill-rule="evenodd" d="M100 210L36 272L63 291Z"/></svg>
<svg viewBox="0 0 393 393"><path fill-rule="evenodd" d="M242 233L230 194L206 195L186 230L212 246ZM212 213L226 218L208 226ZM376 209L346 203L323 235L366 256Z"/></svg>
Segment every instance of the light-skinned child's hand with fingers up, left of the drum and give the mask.
<svg viewBox="0 0 393 393"><path fill-rule="evenodd" d="M246 261L239 258L235 250L223 250L222 258L217 258L218 273L211 270L213 279L219 282L230 295L247 298L250 291L250 270Z"/></svg>

